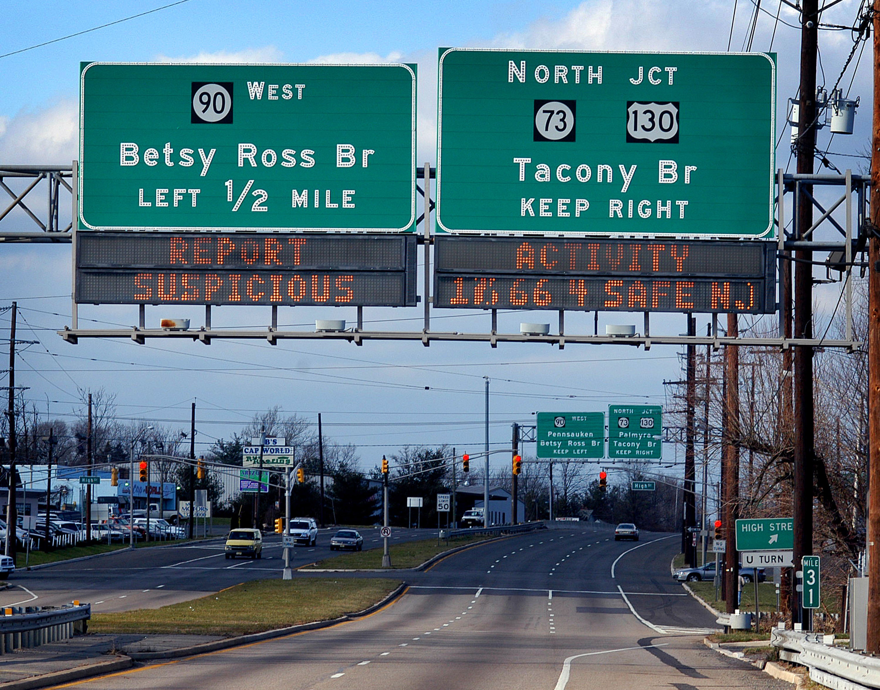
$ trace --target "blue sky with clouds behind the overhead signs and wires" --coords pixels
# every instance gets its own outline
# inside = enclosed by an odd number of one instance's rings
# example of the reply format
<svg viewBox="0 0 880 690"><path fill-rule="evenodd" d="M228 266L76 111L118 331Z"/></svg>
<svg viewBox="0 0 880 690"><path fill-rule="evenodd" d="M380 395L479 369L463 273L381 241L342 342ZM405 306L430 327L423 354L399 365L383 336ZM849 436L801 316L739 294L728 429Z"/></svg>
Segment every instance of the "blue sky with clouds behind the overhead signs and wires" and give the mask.
<svg viewBox="0 0 880 690"><path fill-rule="evenodd" d="M0 55L82 32L138 12L155 2L4 4ZM776 0L762 3L752 50L773 40L779 54L779 121L796 91L799 32L787 6L775 21ZM853 22L859 3L844 0L826 18ZM439 47L583 50L723 51L746 47L753 11L749 0L555 0L553 2L225 2L188 0L140 18L0 58L0 162L69 164L77 151L77 76L81 61L150 62L416 62L419 65L418 158L436 159L436 58ZM775 26L775 35L774 35ZM846 31L822 32L820 81L834 83L852 46ZM857 55L858 56L858 55ZM854 136L838 137L832 150L858 154L868 148L870 48L858 62L853 95L862 97ZM841 83L846 87L856 60ZM822 77L821 75L824 75ZM784 126L778 126L782 134ZM777 165L785 167L788 135L781 137ZM828 137L819 137L825 148ZM860 158L831 157L845 169L867 166ZM791 164L793 165L793 164ZM12 222L20 220L11 219ZM9 222L9 221L7 221ZM2 224L0 224L2 227ZM9 226L7 226L9 227ZM838 288L818 291L817 302L834 305ZM314 419L323 413L326 434L356 444L363 466L402 444L448 443L474 451L483 442L483 377L492 380L492 442L509 443L512 422L530 422L535 411L606 409L609 403L664 402L664 379L680 377L679 350L508 344L302 341L275 348L260 342L200 344L81 341L70 346L55 330L70 323L70 246L0 246L0 306L18 300L24 319L18 337L39 341L21 354L18 385L27 400L52 415L70 414L81 392L101 387L116 394L118 414L188 429L192 400L199 408L199 441L229 437L260 410L280 405L285 413ZM173 314L201 322L200 310ZM371 327L421 328L421 308L367 310ZM282 309L282 326L310 327L315 318L355 319L353 309L327 314ZM444 318L445 317L445 318ZM136 322L135 307L82 307L81 326ZM411 319L411 320L400 320ZM520 321L546 321L540 313L502 314L502 328ZM641 316L610 314L600 324L635 323ZM215 327L262 327L268 309L218 309ZM705 329L705 318L698 332ZM660 316L653 328L682 333L684 316ZM434 327L488 328L483 313L436 314ZM569 332L592 332L592 315L569 314ZM600 325L600 327L602 327ZM0 314L0 333L9 326ZM2 385L2 384L0 384ZM429 387L426 390L425 386ZM533 449L527 448L527 452ZM668 458L676 450L666 449ZM679 450L679 457L681 453ZM496 460L499 466L508 460Z"/></svg>

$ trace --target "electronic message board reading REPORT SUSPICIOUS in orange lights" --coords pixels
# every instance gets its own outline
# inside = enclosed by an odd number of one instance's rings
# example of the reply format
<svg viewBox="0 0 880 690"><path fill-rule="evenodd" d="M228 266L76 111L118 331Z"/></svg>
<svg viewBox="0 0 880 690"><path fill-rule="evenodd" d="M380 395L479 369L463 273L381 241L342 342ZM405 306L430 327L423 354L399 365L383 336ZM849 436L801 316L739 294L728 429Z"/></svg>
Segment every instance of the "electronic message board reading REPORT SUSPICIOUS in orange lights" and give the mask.
<svg viewBox="0 0 880 690"><path fill-rule="evenodd" d="M414 235L78 231L74 299L413 306Z"/></svg>

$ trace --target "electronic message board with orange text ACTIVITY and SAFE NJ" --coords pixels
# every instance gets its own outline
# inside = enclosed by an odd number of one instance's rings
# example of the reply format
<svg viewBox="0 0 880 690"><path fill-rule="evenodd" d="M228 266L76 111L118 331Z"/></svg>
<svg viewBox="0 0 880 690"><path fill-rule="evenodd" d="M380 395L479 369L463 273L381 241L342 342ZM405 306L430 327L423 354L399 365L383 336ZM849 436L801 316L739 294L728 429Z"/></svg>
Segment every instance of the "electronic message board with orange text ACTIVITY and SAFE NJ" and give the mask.
<svg viewBox="0 0 880 690"><path fill-rule="evenodd" d="M451 309L775 312L771 242L435 239L434 305Z"/></svg>

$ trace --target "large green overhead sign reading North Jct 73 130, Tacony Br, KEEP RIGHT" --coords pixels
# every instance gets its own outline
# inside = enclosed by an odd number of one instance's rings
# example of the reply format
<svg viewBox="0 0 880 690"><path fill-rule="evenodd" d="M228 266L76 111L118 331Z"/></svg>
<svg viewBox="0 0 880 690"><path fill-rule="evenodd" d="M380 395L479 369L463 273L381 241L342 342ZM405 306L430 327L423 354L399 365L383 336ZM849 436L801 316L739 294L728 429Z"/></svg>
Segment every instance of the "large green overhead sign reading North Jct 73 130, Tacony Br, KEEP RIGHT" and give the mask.
<svg viewBox="0 0 880 690"><path fill-rule="evenodd" d="M450 232L772 237L774 55L441 48Z"/></svg>

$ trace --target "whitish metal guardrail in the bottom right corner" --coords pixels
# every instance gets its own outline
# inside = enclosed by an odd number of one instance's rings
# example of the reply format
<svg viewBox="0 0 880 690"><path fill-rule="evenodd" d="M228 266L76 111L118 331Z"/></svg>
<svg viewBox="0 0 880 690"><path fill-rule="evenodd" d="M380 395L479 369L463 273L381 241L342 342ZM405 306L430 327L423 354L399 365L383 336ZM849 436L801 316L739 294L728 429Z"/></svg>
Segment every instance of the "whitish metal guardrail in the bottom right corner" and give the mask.
<svg viewBox="0 0 880 690"><path fill-rule="evenodd" d="M791 664L810 669L810 679L835 690L880 688L880 658L833 646L834 635L774 629L770 643Z"/></svg>

